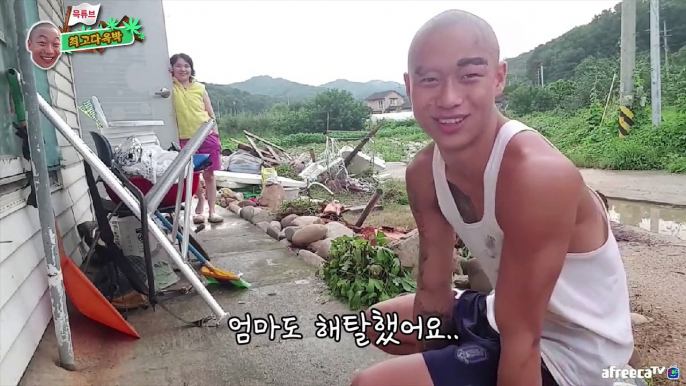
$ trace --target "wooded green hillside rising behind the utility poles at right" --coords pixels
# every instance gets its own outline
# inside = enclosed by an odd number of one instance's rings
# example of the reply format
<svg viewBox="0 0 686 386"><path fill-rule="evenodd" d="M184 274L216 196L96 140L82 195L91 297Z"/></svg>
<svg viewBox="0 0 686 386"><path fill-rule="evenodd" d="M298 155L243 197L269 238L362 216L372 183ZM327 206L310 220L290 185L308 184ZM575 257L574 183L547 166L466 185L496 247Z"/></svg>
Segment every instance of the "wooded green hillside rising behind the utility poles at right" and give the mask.
<svg viewBox="0 0 686 386"><path fill-rule="evenodd" d="M638 1L636 4L636 54L650 52L650 4ZM593 20L576 27L562 36L539 45L530 52L508 59L510 74L537 81L537 71L544 68L546 83L569 79L574 69L585 58L617 58L621 38L621 4L596 15ZM660 2L660 23L667 24L668 49L677 52L686 45L686 1L662 0ZM662 25L660 26L662 27ZM662 34L662 31L661 31ZM664 47L664 44L663 44Z"/></svg>

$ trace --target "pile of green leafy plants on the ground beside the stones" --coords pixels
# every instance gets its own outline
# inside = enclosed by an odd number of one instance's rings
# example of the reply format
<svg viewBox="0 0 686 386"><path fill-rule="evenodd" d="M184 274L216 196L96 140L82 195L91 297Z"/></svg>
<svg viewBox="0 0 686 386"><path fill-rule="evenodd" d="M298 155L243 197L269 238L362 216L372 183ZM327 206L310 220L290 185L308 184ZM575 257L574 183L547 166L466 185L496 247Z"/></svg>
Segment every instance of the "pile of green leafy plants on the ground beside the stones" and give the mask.
<svg viewBox="0 0 686 386"><path fill-rule="evenodd" d="M318 275L352 310L415 292L417 283L411 270L402 267L396 254L384 245L386 235L381 232L374 242L361 237L338 238L331 243L330 260Z"/></svg>

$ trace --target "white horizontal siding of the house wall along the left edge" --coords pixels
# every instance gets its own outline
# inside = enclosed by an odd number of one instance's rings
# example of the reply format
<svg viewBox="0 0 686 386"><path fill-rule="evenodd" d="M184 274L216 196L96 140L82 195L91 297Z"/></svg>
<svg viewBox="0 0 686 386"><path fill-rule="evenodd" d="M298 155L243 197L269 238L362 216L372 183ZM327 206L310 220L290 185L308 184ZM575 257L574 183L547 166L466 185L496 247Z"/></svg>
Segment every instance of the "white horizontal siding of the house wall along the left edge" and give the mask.
<svg viewBox="0 0 686 386"><path fill-rule="evenodd" d="M23 1L23 0L22 0ZM63 24L62 0L37 0L39 18ZM12 31L14 32L14 31ZM71 56L48 70L52 105L79 135ZM82 253L77 224L93 219L82 158L57 133L61 169L52 184L52 205L66 252L76 264ZM26 205L28 191L0 196L0 385L16 385L52 318L38 210ZM14 196L13 196L14 197ZM4 200L3 200L4 199Z"/></svg>

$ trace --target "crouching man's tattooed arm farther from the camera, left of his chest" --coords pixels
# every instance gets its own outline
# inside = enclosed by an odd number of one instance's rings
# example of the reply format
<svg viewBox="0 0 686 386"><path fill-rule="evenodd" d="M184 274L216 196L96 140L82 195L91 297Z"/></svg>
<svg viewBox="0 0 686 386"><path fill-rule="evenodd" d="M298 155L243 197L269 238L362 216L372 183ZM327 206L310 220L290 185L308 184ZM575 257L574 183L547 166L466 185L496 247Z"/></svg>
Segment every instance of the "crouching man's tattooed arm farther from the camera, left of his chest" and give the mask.
<svg viewBox="0 0 686 386"><path fill-rule="evenodd" d="M419 231L419 274L414 302L414 317L439 317L446 328L451 323L453 248L455 231L438 207L431 172L433 147L420 152L407 167L405 180L410 208ZM449 342L422 340L420 351L445 347Z"/></svg>

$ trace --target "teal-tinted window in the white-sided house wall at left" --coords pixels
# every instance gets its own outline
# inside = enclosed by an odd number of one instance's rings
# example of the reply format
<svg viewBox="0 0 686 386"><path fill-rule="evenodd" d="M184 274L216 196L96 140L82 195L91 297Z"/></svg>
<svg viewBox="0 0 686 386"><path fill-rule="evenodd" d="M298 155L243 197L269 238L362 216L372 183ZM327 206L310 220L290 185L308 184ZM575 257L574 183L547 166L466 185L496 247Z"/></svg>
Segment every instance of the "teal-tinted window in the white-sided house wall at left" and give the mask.
<svg viewBox="0 0 686 386"><path fill-rule="evenodd" d="M36 1L26 2L28 25L38 20ZM21 140L15 134L14 115L11 113L11 94L7 80L7 70L19 69L18 50L23 47L16 42L16 35L10 33L14 28L14 7L11 2L0 1L0 185L21 179L24 174ZM34 68L36 87L39 93L50 102L50 88L46 71ZM51 170L59 168L60 156L55 128L41 114L41 127L45 139L45 154Z"/></svg>

